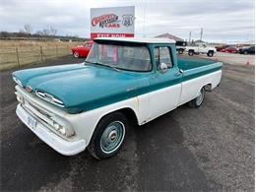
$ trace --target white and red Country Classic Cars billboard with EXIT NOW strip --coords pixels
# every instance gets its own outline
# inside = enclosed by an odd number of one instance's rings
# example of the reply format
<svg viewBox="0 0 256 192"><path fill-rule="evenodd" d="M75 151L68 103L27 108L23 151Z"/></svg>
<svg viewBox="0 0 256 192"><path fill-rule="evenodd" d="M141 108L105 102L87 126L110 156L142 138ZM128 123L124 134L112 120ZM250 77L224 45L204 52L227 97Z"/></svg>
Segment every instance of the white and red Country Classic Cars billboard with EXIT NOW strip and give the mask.
<svg viewBox="0 0 256 192"><path fill-rule="evenodd" d="M91 9L91 38L134 36L135 7Z"/></svg>

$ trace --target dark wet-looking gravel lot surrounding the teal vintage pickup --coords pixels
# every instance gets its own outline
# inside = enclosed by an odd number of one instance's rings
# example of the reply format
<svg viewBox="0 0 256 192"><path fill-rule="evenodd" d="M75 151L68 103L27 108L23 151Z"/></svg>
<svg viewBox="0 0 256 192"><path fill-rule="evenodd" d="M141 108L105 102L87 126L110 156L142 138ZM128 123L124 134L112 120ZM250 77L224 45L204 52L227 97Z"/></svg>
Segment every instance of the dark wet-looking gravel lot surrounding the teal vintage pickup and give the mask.
<svg viewBox="0 0 256 192"><path fill-rule="evenodd" d="M81 62L71 56L47 65ZM233 64L232 62L228 62ZM46 65L41 64L41 65ZM225 64L199 109L182 105L129 132L109 160L64 157L15 114L11 71L1 72L1 191L254 191L254 67Z"/></svg>

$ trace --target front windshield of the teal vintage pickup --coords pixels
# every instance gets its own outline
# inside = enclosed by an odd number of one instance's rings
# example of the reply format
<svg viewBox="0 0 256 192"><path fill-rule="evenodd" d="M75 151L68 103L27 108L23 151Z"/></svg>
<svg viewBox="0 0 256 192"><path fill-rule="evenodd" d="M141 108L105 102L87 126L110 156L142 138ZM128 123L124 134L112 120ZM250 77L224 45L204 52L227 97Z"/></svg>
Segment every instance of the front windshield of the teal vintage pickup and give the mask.
<svg viewBox="0 0 256 192"><path fill-rule="evenodd" d="M95 42L86 62L127 71L152 70L149 49L143 45L127 46Z"/></svg>

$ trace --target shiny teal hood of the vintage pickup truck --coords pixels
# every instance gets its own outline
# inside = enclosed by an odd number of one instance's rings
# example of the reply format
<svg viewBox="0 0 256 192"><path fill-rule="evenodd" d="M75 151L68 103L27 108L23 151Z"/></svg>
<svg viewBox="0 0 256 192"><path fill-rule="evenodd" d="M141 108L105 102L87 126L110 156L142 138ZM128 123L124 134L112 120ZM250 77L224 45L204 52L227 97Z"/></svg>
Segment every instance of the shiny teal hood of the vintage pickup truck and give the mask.
<svg viewBox="0 0 256 192"><path fill-rule="evenodd" d="M13 73L32 93L41 91L64 103L64 110L78 113L147 92L145 73L115 71L94 64L33 68Z"/></svg>

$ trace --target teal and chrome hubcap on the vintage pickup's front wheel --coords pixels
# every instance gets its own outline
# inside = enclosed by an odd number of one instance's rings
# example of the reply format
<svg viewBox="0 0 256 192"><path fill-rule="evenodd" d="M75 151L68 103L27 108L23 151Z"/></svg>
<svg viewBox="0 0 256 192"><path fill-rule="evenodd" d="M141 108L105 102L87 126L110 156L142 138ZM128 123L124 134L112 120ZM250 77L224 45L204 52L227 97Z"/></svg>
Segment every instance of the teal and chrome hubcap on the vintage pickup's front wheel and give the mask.
<svg viewBox="0 0 256 192"><path fill-rule="evenodd" d="M104 130L100 138L100 149L110 154L117 150L123 142L125 126L120 121L110 123Z"/></svg>

